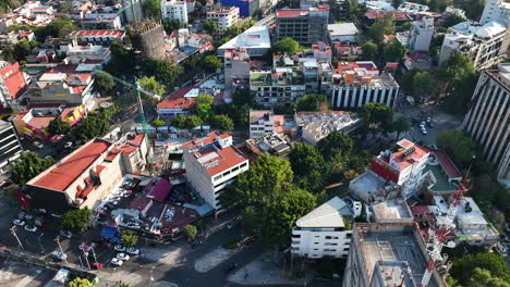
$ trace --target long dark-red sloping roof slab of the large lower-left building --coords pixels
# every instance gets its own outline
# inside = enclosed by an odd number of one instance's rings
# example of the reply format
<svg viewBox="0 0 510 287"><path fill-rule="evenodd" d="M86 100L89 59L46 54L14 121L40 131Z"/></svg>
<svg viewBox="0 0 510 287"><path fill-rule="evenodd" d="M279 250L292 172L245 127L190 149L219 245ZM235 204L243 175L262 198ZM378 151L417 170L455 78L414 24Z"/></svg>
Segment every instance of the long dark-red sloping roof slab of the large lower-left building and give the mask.
<svg viewBox="0 0 510 287"><path fill-rule="evenodd" d="M48 172L33 183L28 183L28 185L64 191L76 178L85 173L110 146L110 142L96 138L64 158L60 163L51 166Z"/></svg>

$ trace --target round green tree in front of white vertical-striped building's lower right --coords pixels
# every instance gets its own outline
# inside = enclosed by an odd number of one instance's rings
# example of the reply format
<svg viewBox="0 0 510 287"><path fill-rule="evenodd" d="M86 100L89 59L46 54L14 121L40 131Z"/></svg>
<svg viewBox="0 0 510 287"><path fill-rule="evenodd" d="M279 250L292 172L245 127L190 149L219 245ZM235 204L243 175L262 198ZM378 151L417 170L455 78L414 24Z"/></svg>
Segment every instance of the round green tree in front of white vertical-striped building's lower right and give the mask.
<svg viewBox="0 0 510 287"><path fill-rule="evenodd" d="M378 102L365 103L362 107L362 115L365 120L365 127L372 133L377 134L391 132L393 121L393 111L388 105Z"/></svg>

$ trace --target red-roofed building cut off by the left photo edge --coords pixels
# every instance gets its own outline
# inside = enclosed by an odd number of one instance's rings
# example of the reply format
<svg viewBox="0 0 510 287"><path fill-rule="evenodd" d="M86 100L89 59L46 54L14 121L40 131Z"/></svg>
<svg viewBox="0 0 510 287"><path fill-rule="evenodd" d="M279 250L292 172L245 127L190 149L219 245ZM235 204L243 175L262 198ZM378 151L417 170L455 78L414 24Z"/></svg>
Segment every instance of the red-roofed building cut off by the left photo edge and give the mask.
<svg viewBox="0 0 510 287"><path fill-rule="evenodd" d="M26 91L27 79L28 76L22 72L20 63L0 61L0 111L9 108L13 100Z"/></svg>

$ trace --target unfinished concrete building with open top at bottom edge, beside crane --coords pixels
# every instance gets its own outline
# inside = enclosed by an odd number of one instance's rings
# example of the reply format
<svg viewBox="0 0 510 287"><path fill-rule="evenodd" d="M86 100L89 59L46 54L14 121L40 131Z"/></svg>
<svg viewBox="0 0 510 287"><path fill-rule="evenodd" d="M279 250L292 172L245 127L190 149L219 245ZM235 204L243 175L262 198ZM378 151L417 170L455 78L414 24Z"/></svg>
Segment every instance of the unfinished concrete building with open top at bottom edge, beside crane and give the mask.
<svg viewBox="0 0 510 287"><path fill-rule="evenodd" d="M415 223L356 223L343 286L418 287L427 269L425 246ZM447 286L446 259L436 263L428 287Z"/></svg>

